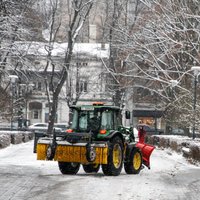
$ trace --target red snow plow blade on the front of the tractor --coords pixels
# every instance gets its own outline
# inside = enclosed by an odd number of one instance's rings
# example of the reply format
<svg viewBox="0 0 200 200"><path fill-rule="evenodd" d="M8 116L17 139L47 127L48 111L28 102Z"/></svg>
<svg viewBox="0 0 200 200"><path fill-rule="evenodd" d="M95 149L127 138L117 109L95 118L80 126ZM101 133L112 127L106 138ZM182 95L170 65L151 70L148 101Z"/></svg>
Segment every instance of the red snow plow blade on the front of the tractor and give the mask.
<svg viewBox="0 0 200 200"><path fill-rule="evenodd" d="M136 144L136 147L138 147L142 152L143 164L150 169L150 156L155 147L150 144L139 142Z"/></svg>

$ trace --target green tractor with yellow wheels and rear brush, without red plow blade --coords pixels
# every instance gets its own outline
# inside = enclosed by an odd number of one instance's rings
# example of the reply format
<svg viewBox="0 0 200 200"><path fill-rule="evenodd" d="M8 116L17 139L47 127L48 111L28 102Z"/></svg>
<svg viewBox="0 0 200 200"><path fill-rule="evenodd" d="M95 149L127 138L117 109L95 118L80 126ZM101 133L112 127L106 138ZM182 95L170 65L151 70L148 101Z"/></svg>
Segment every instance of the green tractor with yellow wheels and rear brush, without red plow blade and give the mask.
<svg viewBox="0 0 200 200"><path fill-rule="evenodd" d="M102 167L107 176L118 176L123 166L127 174L140 172L146 162L143 147L136 145L133 129L122 126L119 107L95 103L71 109L70 129L39 138L38 160L57 161L63 174L78 173L80 165L86 173L97 173ZM126 112L126 116L130 115Z"/></svg>

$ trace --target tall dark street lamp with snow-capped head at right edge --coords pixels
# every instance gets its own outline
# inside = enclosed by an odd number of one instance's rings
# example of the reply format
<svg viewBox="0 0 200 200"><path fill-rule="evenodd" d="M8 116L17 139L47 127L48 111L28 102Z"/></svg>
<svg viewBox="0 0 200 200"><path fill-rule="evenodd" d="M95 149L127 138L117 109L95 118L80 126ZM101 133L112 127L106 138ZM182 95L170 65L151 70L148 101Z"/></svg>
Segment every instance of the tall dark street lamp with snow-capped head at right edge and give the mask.
<svg viewBox="0 0 200 200"><path fill-rule="evenodd" d="M192 126L192 138L195 139L195 114L196 114L196 102L197 102L197 83L198 76L200 74L200 66L194 66L191 68L194 71L194 97L193 97L193 126Z"/></svg>

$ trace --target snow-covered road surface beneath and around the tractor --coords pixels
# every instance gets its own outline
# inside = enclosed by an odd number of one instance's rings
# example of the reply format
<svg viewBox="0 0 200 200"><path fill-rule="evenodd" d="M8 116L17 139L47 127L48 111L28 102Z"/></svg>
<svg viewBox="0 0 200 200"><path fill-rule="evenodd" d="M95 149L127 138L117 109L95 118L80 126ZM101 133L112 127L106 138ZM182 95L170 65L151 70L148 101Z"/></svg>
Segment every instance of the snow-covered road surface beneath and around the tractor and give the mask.
<svg viewBox="0 0 200 200"><path fill-rule="evenodd" d="M200 167L155 149L151 170L117 177L62 175L57 162L37 161L33 141L0 150L0 200L190 200L200 196Z"/></svg>

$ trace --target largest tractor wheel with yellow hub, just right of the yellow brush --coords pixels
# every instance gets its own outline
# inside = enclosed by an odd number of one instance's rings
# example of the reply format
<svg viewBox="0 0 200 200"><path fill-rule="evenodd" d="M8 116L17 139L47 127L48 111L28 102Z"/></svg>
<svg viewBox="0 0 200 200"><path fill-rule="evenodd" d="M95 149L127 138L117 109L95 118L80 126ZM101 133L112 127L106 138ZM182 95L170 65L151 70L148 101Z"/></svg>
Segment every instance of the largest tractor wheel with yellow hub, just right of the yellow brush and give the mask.
<svg viewBox="0 0 200 200"><path fill-rule="evenodd" d="M108 153L108 164L102 165L103 173L107 176L118 176L123 165L123 142L120 137L111 140Z"/></svg>

